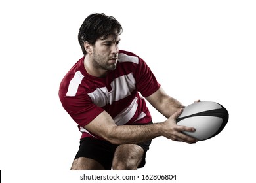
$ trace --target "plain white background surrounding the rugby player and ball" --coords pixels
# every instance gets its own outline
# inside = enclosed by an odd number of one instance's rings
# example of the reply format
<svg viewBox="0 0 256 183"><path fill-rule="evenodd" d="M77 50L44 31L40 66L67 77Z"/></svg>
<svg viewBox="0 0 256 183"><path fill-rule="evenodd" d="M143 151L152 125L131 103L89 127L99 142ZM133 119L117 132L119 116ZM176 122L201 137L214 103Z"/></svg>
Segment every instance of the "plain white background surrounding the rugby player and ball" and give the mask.
<svg viewBox="0 0 256 183"><path fill-rule="evenodd" d="M82 57L77 33L93 12L121 23L120 48L144 59L169 95L184 105L216 101L230 114L223 131L207 141L154 139L146 167L135 174L176 174L174 182L255 181L255 8L246 0L1 1L2 181L81 182L81 173L68 171L81 134L58 87ZM150 110L154 122L165 120Z"/></svg>

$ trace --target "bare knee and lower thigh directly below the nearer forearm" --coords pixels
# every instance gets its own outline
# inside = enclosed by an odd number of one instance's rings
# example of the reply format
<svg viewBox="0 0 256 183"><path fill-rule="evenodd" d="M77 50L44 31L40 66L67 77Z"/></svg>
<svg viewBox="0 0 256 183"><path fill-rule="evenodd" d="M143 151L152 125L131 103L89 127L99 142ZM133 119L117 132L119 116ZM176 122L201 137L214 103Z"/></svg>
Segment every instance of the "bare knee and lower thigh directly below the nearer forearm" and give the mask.
<svg viewBox="0 0 256 183"><path fill-rule="evenodd" d="M124 144L116 148L113 169L137 169L144 158L144 150L137 144Z"/></svg>

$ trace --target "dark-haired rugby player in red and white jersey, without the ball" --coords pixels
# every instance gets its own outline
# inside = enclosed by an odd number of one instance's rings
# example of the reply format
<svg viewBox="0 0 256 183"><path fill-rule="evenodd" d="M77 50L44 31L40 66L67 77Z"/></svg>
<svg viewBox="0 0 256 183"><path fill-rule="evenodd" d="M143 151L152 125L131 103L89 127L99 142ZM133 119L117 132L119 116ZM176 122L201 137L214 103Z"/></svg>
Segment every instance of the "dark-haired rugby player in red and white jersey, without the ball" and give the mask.
<svg viewBox="0 0 256 183"><path fill-rule="evenodd" d="M113 17L91 14L79 29L84 57L64 76L59 97L82 132L71 169L137 169L144 167L151 140L164 136L195 143L176 118L184 106L169 97L146 63L119 50L122 27ZM165 122L151 122L144 98Z"/></svg>

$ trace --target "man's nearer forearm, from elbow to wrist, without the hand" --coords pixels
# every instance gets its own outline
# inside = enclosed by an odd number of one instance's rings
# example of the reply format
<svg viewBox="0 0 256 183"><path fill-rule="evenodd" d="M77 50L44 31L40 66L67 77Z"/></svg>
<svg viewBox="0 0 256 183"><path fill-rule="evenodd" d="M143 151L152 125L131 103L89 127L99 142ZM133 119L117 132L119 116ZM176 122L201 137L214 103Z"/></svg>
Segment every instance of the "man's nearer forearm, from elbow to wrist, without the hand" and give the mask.
<svg viewBox="0 0 256 183"><path fill-rule="evenodd" d="M112 127L107 140L112 144L137 144L163 135L163 123Z"/></svg>

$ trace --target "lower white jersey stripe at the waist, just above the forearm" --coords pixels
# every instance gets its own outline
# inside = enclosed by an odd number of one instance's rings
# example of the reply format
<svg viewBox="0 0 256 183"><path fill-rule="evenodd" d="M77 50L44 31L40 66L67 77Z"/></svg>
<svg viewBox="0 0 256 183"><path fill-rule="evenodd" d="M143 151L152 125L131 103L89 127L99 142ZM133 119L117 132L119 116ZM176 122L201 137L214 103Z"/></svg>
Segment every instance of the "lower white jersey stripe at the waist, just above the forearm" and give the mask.
<svg viewBox="0 0 256 183"><path fill-rule="evenodd" d="M137 100L138 100L138 98L135 97L135 99L133 99L131 104L127 108L123 109L123 111L121 111L113 119L116 125L124 125L127 122L129 122L129 120L131 120L131 118L133 118L133 116L137 110L137 107L138 107Z"/></svg>

